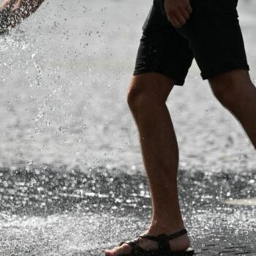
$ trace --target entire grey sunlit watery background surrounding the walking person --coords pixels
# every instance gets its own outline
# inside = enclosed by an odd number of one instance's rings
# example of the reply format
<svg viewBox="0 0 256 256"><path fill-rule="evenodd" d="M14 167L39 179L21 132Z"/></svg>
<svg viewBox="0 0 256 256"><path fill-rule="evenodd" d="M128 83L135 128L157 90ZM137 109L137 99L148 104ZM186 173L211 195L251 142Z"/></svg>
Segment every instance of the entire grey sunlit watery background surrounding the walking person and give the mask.
<svg viewBox="0 0 256 256"><path fill-rule="evenodd" d="M255 78L254 4L246 4L241 26ZM151 200L126 97L150 5L49 1L0 37L0 255L99 255L146 229ZM226 204L256 196L255 150L241 127L195 64L167 106L195 249L252 241L254 206Z"/></svg>

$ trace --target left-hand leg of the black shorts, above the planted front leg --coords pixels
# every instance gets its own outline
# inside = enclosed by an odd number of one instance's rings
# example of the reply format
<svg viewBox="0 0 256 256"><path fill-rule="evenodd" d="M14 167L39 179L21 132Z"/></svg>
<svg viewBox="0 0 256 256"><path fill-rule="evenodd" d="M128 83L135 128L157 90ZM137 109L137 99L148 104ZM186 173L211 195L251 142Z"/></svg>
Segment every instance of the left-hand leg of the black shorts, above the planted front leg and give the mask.
<svg viewBox="0 0 256 256"><path fill-rule="evenodd" d="M192 64L192 51L167 20L163 1L155 0L145 23L135 63L134 75L159 72L182 86Z"/></svg>

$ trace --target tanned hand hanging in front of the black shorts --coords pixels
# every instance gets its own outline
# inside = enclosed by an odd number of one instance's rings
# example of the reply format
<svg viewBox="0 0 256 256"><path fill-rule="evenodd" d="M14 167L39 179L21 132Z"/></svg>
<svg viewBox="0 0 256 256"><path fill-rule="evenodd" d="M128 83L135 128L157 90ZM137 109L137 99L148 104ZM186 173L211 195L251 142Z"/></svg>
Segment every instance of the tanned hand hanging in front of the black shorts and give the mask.
<svg viewBox="0 0 256 256"><path fill-rule="evenodd" d="M170 23L180 28L189 19L192 7L189 0L165 0L165 12Z"/></svg>

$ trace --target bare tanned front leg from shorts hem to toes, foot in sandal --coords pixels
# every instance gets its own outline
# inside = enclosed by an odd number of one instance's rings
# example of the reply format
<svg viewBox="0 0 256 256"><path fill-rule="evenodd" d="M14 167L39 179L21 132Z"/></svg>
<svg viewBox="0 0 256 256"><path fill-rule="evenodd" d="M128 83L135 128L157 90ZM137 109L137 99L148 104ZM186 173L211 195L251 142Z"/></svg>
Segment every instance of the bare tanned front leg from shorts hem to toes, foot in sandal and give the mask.
<svg viewBox="0 0 256 256"><path fill-rule="evenodd" d="M152 219L146 233L156 236L184 229L177 191L178 145L170 113L165 105L173 85L173 80L159 73L135 75L127 99L138 126L143 162L152 195ZM157 248L156 242L143 238L139 244L143 249ZM176 251L186 250L189 245L187 235L170 241L171 248ZM129 251L129 245L123 244L106 251L106 255L120 255Z"/></svg>

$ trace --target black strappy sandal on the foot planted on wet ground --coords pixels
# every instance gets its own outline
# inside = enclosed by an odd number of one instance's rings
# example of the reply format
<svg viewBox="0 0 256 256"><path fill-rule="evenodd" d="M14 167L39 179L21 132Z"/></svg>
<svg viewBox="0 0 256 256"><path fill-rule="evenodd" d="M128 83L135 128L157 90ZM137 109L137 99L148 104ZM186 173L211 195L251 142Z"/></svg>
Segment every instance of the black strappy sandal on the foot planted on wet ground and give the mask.
<svg viewBox="0 0 256 256"><path fill-rule="evenodd" d="M194 255L194 250L192 248L188 248L186 251L181 252L175 252L170 249L170 243L169 240L178 238L179 236L187 234L187 230L181 230L177 233L167 235L167 234L161 234L158 236L152 236L149 234L141 235L138 238L135 238L131 241L122 241L118 246L121 246L122 244L129 244L131 246L132 250L129 252L128 255L119 255L119 256L190 256ZM139 245L139 238L146 238L152 241L157 241L158 248L154 250L144 250Z"/></svg>

